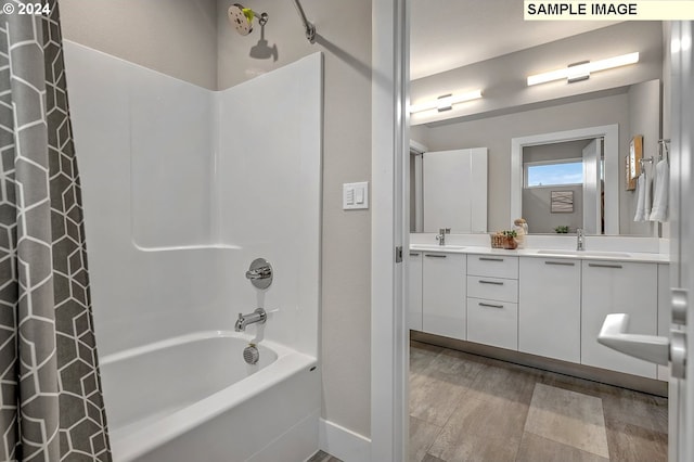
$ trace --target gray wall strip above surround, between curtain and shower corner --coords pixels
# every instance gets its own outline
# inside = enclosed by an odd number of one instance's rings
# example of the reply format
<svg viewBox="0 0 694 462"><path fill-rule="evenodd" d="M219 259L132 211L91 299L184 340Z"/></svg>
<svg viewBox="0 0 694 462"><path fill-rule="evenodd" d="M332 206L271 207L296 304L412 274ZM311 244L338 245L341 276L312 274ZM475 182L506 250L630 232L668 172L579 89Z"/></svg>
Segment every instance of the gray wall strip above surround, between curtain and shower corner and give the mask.
<svg viewBox="0 0 694 462"><path fill-rule="evenodd" d="M63 38L217 89L215 0L61 0Z"/></svg>

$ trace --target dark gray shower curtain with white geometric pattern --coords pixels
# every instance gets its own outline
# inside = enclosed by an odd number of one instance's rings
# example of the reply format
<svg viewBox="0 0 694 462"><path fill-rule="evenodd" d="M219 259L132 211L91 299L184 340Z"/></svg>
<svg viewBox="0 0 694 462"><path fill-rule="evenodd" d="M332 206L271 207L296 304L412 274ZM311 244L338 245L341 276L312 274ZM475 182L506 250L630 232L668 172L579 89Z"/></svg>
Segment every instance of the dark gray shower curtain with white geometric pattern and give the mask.
<svg viewBox="0 0 694 462"><path fill-rule="evenodd" d="M0 459L111 461L57 2L20 3L0 16Z"/></svg>

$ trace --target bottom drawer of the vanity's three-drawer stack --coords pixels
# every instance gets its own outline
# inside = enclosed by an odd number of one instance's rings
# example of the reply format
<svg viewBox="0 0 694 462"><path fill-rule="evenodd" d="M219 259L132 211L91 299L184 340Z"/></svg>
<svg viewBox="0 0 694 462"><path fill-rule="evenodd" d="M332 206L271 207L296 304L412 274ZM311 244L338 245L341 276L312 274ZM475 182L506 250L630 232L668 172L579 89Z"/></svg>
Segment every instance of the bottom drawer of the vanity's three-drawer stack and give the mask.
<svg viewBox="0 0 694 462"><path fill-rule="evenodd" d="M467 297L467 341L518 349L518 304Z"/></svg>

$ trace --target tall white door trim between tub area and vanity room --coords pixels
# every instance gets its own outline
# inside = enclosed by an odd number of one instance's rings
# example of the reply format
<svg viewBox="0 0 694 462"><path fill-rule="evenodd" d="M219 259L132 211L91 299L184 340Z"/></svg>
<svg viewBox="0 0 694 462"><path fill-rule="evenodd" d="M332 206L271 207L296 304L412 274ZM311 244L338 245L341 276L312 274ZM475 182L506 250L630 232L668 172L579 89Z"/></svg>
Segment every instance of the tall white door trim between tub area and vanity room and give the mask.
<svg viewBox="0 0 694 462"><path fill-rule="evenodd" d="M372 10L371 142L371 460L408 459L409 331L404 264L395 248L409 246L404 210L409 166L409 4L374 1Z"/></svg>

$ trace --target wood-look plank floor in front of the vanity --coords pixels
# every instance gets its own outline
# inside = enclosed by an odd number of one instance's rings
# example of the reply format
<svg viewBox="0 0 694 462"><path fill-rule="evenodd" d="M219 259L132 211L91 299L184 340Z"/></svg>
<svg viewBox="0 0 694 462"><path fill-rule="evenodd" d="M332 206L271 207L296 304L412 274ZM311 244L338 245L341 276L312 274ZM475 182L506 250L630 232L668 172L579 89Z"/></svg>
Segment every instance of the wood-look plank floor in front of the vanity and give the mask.
<svg viewBox="0 0 694 462"><path fill-rule="evenodd" d="M667 461L667 399L412 342L410 461Z"/></svg>

